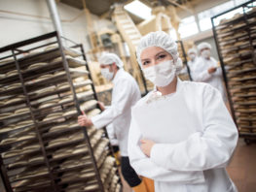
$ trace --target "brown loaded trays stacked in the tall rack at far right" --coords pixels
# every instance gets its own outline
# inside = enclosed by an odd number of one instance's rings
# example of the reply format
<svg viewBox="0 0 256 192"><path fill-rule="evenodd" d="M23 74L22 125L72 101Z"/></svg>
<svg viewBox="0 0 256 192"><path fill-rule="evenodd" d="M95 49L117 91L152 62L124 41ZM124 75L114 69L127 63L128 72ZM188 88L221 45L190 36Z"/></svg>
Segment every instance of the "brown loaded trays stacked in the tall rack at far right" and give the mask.
<svg viewBox="0 0 256 192"><path fill-rule="evenodd" d="M256 9L216 27L240 134L256 133Z"/></svg>

